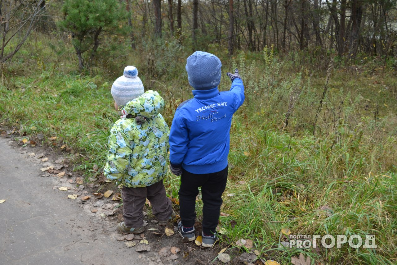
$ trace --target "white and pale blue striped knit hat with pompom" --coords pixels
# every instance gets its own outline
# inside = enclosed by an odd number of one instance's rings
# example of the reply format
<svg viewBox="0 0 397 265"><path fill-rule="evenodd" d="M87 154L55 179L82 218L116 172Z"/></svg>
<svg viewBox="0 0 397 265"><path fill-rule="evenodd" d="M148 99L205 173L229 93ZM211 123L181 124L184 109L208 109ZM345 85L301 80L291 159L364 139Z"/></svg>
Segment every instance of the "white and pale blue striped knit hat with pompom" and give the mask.
<svg viewBox="0 0 397 265"><path fill-rule="evenodd" d="M124 68L124 75L114 81L110 90L117 105L125 106L127 102L145 93L141 79L138 77L138 70L135 66Z"/></svg>

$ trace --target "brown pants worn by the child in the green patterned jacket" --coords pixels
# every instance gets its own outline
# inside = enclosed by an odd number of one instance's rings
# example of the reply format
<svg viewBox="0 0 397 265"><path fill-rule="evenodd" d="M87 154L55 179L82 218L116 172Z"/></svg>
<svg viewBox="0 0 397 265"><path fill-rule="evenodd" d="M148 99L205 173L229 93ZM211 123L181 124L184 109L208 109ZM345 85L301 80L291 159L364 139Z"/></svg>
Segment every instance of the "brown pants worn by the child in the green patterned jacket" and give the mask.
<svg viewBox="0 0 397 265"><path fill-rule="evenodd" d="M123 198L124 223L128 227L143 226L143 206L146 198L152 204L152 214L160 221L167 220L172 214L171 200L166 196L163 181L142 188L121 189Z"/></svg>

